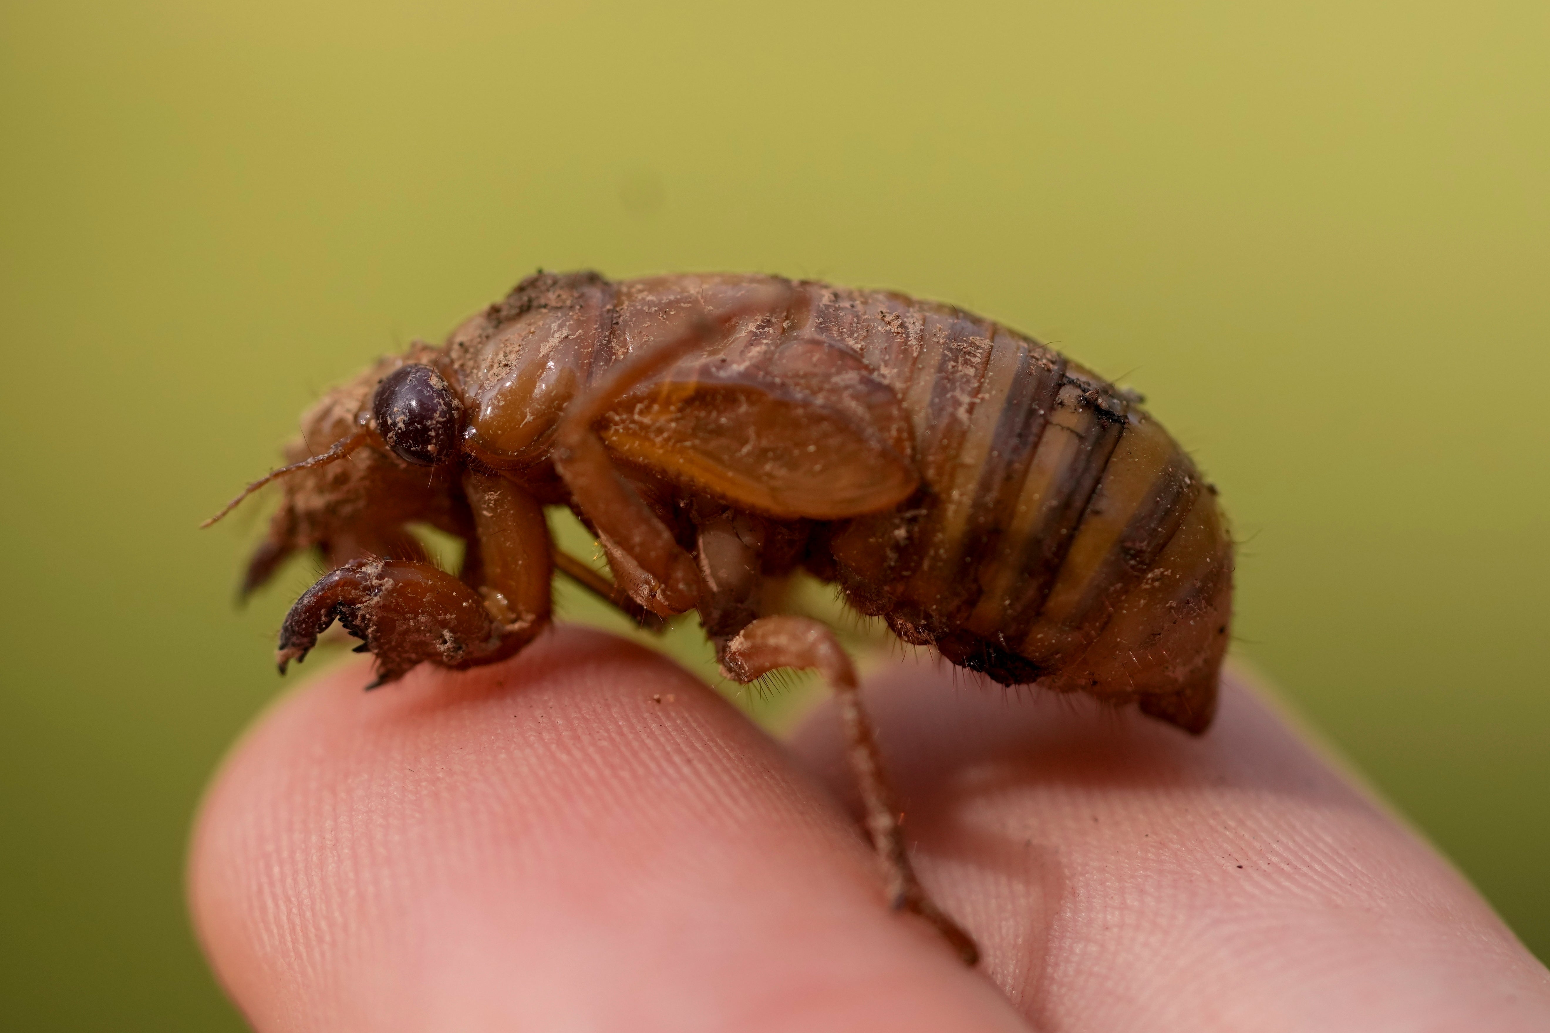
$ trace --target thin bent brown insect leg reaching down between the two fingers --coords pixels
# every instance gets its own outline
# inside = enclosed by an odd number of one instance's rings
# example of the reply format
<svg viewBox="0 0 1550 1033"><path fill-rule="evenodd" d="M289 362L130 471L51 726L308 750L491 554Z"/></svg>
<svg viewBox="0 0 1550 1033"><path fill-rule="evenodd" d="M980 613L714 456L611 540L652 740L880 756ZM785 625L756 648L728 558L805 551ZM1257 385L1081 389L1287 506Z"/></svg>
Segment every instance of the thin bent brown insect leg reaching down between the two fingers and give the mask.
<svg viewBox="0 0 1550 1033"><path fill-rule="evenodd" d="M914 875L904 849L899 808L884 777L882 756L871 722L862 708L856 668L834 632L806 616L763 616L744 627L724 649L721 664L727 677L752 681L777 668L815 668L834 689L845 728L846 757L866 808L866 832L888 884L888 903L911 911L947 939L966 965L980 960L973 939L942 914Z"/></svg>

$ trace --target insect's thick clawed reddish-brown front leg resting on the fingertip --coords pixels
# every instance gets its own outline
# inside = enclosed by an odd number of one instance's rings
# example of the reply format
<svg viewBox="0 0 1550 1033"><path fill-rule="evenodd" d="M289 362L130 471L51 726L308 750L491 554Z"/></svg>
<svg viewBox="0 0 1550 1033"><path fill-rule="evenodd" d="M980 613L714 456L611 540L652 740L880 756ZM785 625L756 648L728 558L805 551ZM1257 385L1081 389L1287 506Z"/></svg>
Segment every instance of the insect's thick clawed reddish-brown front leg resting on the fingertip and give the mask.
<svg viewBox="0 0 1550 1033"><path fill-rule="evenodd" d="M502 477L463 474L479 541L477 590L420 561L352 559L322 576L285 616L281 671L333 621L377 654L377 681L420 663L474 668L504 660L549 623L550 542L542 508Z"/></svg>

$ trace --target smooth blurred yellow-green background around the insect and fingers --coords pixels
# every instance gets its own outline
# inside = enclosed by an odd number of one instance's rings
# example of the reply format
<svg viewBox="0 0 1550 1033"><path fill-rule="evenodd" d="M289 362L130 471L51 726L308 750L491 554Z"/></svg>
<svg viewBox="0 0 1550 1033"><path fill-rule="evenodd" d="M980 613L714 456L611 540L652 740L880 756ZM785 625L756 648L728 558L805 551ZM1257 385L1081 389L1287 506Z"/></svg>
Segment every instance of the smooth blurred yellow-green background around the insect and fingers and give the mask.
<svg viewBox="0 0 1550 1033"><path fill-rule="evenodd" d="M231 593L330 383L546 268L953 300L1144 390L1238 655L1550 956L1550 6L0 8L0 1000L231 1030L200 787L310 571Z"/></svg>

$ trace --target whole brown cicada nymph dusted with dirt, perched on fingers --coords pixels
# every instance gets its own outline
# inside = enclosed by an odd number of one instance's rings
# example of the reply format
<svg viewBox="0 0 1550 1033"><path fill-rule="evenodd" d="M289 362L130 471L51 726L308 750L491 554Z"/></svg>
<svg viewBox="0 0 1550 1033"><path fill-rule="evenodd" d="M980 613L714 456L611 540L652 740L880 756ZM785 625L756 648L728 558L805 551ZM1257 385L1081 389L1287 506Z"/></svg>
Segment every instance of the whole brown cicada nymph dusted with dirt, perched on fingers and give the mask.
<svg viewBox="0 0 1550 1033"><path fill-rule="evenodd" d="M281 671L338 619L377 655L374 685L513 655L549 623L555 571L642 623L699 610L738 681L818 669L891 904L973 963L911 872L849 658L822 623L766 613L761 589L806 570L1003 685L1204 731L1232 544L1139 401L902 294L541 273L302 418L291 465L248 488L285 475L243 590L321 550L332 570L285 618ZM612 582L553 547L552 505L597 534ZM432 565L408 522L462 537L462 570Z"/></svg>

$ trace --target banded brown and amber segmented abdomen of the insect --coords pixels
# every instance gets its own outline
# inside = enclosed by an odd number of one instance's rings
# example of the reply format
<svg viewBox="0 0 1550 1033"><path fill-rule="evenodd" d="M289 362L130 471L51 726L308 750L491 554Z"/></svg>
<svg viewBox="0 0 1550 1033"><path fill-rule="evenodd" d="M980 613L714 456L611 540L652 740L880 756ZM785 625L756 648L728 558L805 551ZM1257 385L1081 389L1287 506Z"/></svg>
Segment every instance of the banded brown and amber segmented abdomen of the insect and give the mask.
<svg viewBox="0 0 1550 1033"><path fill-rule="evenodd" d="M814 330L902 398L922 491L837 530L852 601L1004 683L1085 689L1203 726L1232 547L1214 491L1139 406L946 305L804 285Z"/></svg>

